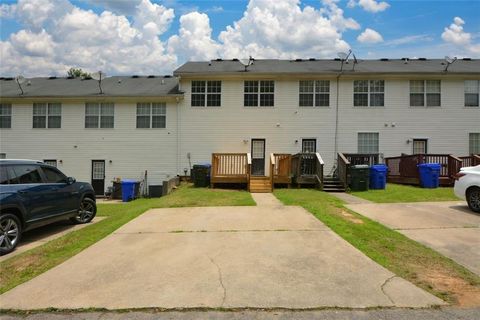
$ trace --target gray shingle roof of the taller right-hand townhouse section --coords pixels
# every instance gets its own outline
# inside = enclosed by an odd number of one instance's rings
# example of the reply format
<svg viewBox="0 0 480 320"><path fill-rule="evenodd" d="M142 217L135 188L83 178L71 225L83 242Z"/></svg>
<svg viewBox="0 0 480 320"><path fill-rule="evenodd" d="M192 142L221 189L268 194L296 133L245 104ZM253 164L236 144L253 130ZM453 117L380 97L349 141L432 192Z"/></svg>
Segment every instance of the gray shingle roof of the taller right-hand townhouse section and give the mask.
<svg viewBox="0 0 480 320"><path fill-rule="evenodd" d="M402 59L358 60L355 71L352 71L353 60L344 64L345 74L442 74L445 69L443 59L412 59L406 62ZM248 73L268 74L338 74L341 61L339 60L255 60L248 67ZM212 60L205 62L187 62L173 74L178 76L193 74L238 74L244 72L244 66L238 60ZM480 60L458 59L448 68L449 74L475 74L480 73Z"/></svg>

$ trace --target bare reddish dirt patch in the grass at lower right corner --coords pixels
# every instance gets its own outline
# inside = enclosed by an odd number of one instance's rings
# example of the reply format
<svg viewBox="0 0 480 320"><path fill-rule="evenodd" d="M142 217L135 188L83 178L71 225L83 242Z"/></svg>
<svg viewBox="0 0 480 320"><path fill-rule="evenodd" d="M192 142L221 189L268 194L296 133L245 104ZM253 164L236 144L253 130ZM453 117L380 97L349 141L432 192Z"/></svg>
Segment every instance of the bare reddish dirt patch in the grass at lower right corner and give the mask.
<svg viewBox="0 0 480 320"><path fill-rule="evenodd" d="M430 269L418 274L418 280L436 291L445 292L455 299L460 307L480 306L480 287L449 275L444 270Z"/></svg>

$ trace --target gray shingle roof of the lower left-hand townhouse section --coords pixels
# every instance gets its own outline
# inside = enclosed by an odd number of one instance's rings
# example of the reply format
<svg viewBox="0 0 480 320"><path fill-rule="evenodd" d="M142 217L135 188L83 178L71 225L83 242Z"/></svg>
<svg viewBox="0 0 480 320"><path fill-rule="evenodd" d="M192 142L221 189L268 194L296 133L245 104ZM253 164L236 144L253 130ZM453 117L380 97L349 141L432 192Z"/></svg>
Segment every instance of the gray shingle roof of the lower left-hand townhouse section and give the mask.
<svg viewBox="0 0 480 320"><path fill-rule="evenodd" d="M30 84L28 84L30 82ZM0 78L0 97L165 97L181 94L175 77L109 77L102 80L104 94L99 94L98 81L80 78L30 78L22 84L20 96L17 82Z"/></svg>

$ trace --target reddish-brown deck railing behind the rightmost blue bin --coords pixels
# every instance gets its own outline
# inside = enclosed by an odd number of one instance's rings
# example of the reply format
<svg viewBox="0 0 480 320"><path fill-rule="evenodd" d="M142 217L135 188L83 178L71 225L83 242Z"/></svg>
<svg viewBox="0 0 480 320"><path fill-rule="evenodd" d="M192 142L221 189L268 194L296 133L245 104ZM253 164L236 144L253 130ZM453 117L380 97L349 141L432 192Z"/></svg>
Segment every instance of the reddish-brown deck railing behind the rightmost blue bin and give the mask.
<svg viewBox="0 0 480 320"><path fill-rule="evenodd" d="M422 163L440 164L440 184L451 185L453 176L462 167L462 160L449 154L415 154L385 158L388 180L397 183L418 184L420 181L417 165Z"/></svg>

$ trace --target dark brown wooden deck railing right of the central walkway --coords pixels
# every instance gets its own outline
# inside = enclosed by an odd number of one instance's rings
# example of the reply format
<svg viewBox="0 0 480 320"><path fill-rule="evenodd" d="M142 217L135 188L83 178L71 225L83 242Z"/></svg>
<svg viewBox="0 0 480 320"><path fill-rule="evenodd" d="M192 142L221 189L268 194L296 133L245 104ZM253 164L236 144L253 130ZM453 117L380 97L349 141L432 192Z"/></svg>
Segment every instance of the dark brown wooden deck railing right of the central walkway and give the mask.
<svg viewBox="0 0 480 320"><path fill-rule="evenodd" d="M292 156L292 172L297 184L315 184L323 188L324 162L318 152Z"/></svg>

